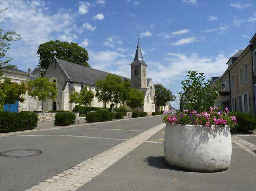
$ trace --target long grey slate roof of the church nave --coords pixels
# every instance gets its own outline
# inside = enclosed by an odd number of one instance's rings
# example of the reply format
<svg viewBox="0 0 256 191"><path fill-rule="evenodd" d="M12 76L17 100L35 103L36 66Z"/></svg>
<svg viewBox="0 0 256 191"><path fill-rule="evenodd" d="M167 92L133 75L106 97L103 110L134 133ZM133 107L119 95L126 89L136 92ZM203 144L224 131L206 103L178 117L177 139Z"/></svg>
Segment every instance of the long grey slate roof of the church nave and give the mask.
<svg viewBox="0 0 256 191"><path fill-rule="evenodd" d="M74 64L65 60L56 58L64 73L71 82L79 82L82 84L95 85L97 80L105 80L106 76L110 73L86 67L79 64ZM131 81L130 78L120 76L122 80Z"/></svg>

